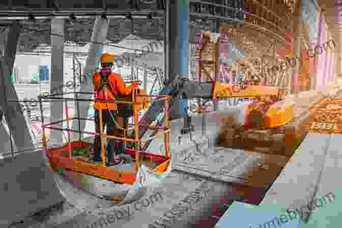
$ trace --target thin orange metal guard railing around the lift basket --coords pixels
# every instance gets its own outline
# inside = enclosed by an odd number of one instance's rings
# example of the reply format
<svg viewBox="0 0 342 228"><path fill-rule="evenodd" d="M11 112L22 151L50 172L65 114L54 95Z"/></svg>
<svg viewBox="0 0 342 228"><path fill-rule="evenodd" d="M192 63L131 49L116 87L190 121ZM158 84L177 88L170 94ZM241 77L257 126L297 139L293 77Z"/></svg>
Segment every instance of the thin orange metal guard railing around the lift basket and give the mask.
<svg viewBox="0 0 342 228"><path fill-rule="evenodd" d="M67 97L64 97L64 95L68 95L68 94L74 94L76 98L67 98ZM169 96L167 95L140 95L140 94L137 94L137 90L136 89L133 89L133 92L132 92L132 101L123 101L123 100L108 100L108 99L102 99L102 98L97 98L98 101L103 101L105 102L106 104L116 104L116 105L119 105L119 104L125 104L125 105L131 105L133 106L133 118L134 118L134 124L128 124L127 126L124 126L124 127L121 127L119 126L119 124L115 122L116 124L116 128L119 128L120 130L123 130L124 131L124 137L119 137L119 136L115 136L115 135L108 135L108 134L105 134L103 133L103 127L102 127L102 112L99 112L99 123L100 123L100 132L89 132L89 131L81 131L80 130L80 120L86 120L86 121L90 121L91 119L88 119L88 118L80 118L79 117L79 112L77 112L77 117L73 117L73 118L68 118L68 113L67 113L67 119L63 119L63 120L59 120L59 121L55 121L55 122L51 122L51 123L44 123L44 116L43 116L43 105L42 103L43 102L51 102L51 101L62 101L62 102L65 102L65 105L66 105L66 110L68 110L68 102L76 102L76 106L77 106L77 103L79 101L89 101L89 102L94 102L93 99L82 99L82 98L78 98L78 95L79 94L87 94L87 95L93 95L93 93L87 93L87 92L69 92L69 93L64 93L64 94L53 94L53 95L48 95L48 96L42 96L39 98L39 104L40 104L40 108L41 108L41 116L42 116L42 131L43 131L43 144L45 146L45 148L47 147L47 144L46 144L46 138L45 138L45 129L51 129L51 130L59 130L59 131L67 131L68 133L68 137L69 137L69 157L72 158L72 152L71 152L71 139L70 139L70 132L73 132L73 133L78 133L78 141L81 141L81 134L88 134L88 135L92 135L93 137L101 137L101 138L112 138L112 139L117 139L117 140L121 140L123 142L129 142L129 143L133 143L134 144L134 151L135 151L135 170L137 171L138 170L138 153L139 153L139 147L141 144L146 144L148 141L160 136L160 135L164 135L164 139L165 139L165 156L166 157L169 157L169 139L170 139L170 126L169 126L169 120L168 120L168 100L169 100ZM155 97L155 101L158 101L158 100L161 100L161 101L164 101L164 123L165 125L163 127L158 127L158 126L148 126L148 128L152 129L152 130L160 130L161 132L159 132L158 134L155 134L149 138L146 138L146 139L139 139L139 135L138 135L138 132L139 132L139 126L141 126L139 124L139 120L138 120L138 106L139 105L143 105L143 107L147 107L147 102L146 102L146 99L143 99L143 102L140 102L140 101L137 101L136 99L137 98L151 98L151 97ZM44 101L43 101L44 100ZM113 118L113 117L112 117ZM74 129L70 129L69 128L69 121L73 121L73 120L78 120L78 130L74 130ZM61 128L61 127L52 127L53 125L56 125L56 124L61 124L61 123L67 123L67 127L66 128ZM129 136L129 131L132 130L134 128L134 132L135 132L135 135L134 135L134 138L128 138ZM103 141L103 139L102 139ZM102 142L103 144L103 142ZM102 148L102 153L103 151L105 150L104 149L104 145L101 146ZM46 148L47 150L47 148ZM104 156L102 157L102 161L103 161L103 165L105 166L105 153L103 154Z"/></svg>

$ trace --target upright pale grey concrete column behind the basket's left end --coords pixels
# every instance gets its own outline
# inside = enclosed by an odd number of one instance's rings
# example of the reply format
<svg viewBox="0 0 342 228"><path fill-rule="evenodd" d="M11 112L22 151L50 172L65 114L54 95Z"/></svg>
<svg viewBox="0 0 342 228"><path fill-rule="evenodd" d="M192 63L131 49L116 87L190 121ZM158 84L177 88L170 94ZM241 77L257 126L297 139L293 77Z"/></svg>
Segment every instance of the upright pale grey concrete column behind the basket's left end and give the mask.
<svg viewBox="0 0 342 228"><path fill-rule="evenodd" d="M63 89L61 88L64 85L64 19L52 19L51 33L61 36L51 36L50 94L61 94L63 93ZM50 122L57 122L64 119L64 106L63 101L50 102ZM56 124L54 127L63 128L63 123ZM50 130L49 143L63 143L63 133L58 130Z"/></svg>

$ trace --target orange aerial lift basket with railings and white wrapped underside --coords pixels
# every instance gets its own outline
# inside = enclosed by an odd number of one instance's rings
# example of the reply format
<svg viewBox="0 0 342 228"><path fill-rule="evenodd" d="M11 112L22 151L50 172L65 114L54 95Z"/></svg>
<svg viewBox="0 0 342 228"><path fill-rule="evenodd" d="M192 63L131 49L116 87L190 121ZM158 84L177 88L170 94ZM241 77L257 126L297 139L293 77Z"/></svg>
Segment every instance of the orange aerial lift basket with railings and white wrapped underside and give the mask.
<svg viewBox="0 0 342 228"><path fill-rule="evenodd" d="M80 121L79 117L74 117L69 119L68 113L68 102L73 101L76 102L76 107L78 108L79 101L88 101L85 99L79 99L78 94L84 94L81 92L74 92L74 98L66 98L64 94L61 95L49 95L43 98L40 98L40 107L42 108L43 99L49 101L59 100L65 103L66 110L66 120L58 121L55 123L44 124L44 118L42 117L42 130L43 130L43 145L45 147L46 156L48 158L48 164L51 167L51 170L55 172L60 172L65 177L69 177L67 173L78 173L79 175L72 175L71 180L75 181L75 179L80 179L80 181L86 181L87 185L81 185L80 187L86 189L92 194L97 195L98 197L106 197L112 198L117 202L124 203L126 201L132 201L136 195L139 195L139 188L146 188L154 182L158 182L168 175L171 169L171 158L169 154L169 123L168 123L168 100L169 97L167 95L146 95L138 94L138 83L132 82L132 97L128 98L120 98L117 97L115 100L108 99L100 99L106 103L114 103L115 105L129 105L132 107L132 116L134 119L133 124L127 124L127 126L120 126L117 122L117 118L111 116L113 118L113 122L115 123L115 128L123 131L123 135L108 135L104 133L104 125L102 121L102 112L99 111L99 124L100 131L99 132L85 132L85 131L76 131L74 129L69 128L69 121L77 120ZM69 93L70 94L70 93ZM87 93L89 94L89 93ZM164 104L164 123L161 127L152 127L149 128L158 128L160 132L155 135L157 137L159 135L163 135L164 138L164 150L165 154L156 155L154 153L147 153L140 150L141 146L146 143L146 140L139 139L137 132L139 130L139 116L138 111L140 109L147 108L149 106L150 97L157 97L156 100L160 100ZM101 102L103 102L101 101ZM108 105L107 105L108 107ZM43 109L41 109L42 112ZM88 120L88 119L87 119ZM58 123L66 122L67 128L58 128L53 125ZM66 131L68 134L67 143L62 147L49 147L47 144L47 140L45 138L45 129L52 130L60 130ZM134 129L136 134L134 138L130 138L130 131ZM70 132L79 133L79 138L76 141L71 141ZM92 144L89 142L85 142L81 138L81 133L91 134L95 137L101 137L101 162L90 162L90 150ZM154 137L150 137L149 139L153 139ZM130 155L133 159L125 159L125 164L121 166L107 166L106 165L106 139L116 139L122 140L124 143L130 143L131 145L126 145L125 151L126 155ZM88 153L83 153L80 158L75 157L75 152L79 150L87 150ZM88 159L87 159L88 158ZM104 179L108 181L108 185L113 188L110 189L108 186L98 185L96 182L89 182L88 180L92 177ZM144 176L141 179L141 176ZM109 183L112 182L112 183ZM122 192L118 193L118 189L120 186L124 186L122 188ZM60 188L62 188L60 186ZM107 190L108 192L104 194L99 194L99 192L104 192ZM61 189L63 191L63 189Z"/></svg>

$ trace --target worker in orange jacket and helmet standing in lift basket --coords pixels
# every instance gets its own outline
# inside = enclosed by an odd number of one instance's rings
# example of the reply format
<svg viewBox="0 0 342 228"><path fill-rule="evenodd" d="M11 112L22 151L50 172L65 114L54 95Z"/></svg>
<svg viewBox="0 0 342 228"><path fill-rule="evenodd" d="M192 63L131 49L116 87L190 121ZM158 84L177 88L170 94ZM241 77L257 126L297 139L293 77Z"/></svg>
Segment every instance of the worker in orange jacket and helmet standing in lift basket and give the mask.
<svg viewBox="0 0 342 228"><path fill-rule="evenodd" d="M121 75L111 72L113 67L115 56L109 53L103 53L101 55L101 69L100 72L93 75L94 83L94 109L95 109L95 129L96 133L99 133L99 112L102 112L103 127L107 126L107 135L118 135L118 129L116 128L115 121L118 123L119 111L122 111L122 105L110 102L116 100L118 97L129 97L132 96L132 90L126 87ZM106 99L104 100L98 100ZM108 102L109 101L109 102ZM121 113L121 117L127 119L130 114ZM127 121L123 125L127 124ZM126 123L125 123L126 122ZM125 126L121 126L125 127ZM123 163L121 154L124 152L123 141L116 141L113 138L109 138L107 144L108 152L108 165L118 165ZM96 136L94 140L94 157L95 162L102 161L101 159L101 137Z"/></svg>

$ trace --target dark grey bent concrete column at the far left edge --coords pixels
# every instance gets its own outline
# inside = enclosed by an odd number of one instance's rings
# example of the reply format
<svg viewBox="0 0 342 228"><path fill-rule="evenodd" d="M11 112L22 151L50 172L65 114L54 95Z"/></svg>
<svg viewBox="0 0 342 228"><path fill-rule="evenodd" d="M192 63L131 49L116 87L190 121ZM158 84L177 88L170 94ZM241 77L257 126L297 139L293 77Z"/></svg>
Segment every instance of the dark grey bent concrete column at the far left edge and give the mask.
<svg viewBox="0 0 342 228"><path fill-rule="evenodd" d="M20 24L18 21L13 21L8 33L4 56L0 57L0 88L2 88L2 92L0 93L0 105L4 110L6 122L9 126L9 131L12 134L14 144L20 151L34 148L35 145L29 123L27 123L24 117L21 105L17 102L18 95L14 89L13 83L10 81L19 35ZM9 138L0 138L0 141L3 143L2 145L8 140Z"/></svg>

